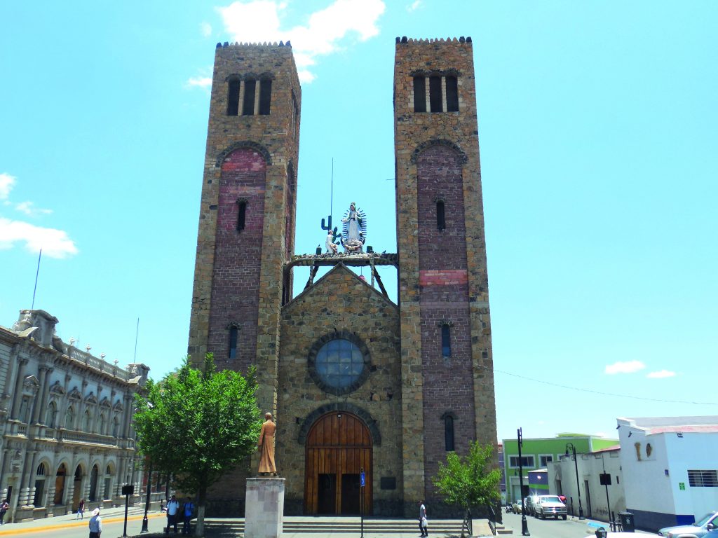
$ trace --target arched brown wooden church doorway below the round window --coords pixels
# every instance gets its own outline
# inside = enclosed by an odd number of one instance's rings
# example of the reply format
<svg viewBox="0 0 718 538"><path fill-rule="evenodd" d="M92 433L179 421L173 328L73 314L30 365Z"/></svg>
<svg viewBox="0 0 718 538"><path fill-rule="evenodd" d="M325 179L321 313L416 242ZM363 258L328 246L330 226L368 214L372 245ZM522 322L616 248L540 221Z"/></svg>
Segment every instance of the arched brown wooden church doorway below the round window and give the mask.
<svg viewBox="0 0 718 538"><path fill-rule="evenodd" d="M309 430L306 446L304 513L357 515L363 490L364 513L371 514L372 438L363 420L343 411L322 415Z"/></svg>

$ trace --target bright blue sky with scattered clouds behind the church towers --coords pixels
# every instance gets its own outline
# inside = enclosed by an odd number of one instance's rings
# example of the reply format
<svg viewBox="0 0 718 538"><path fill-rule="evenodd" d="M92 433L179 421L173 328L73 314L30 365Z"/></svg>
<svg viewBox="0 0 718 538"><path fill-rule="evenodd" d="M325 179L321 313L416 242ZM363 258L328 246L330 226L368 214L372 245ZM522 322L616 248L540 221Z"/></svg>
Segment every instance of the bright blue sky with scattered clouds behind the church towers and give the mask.
<svg viewBox="0 0 718 538"><path fill-rule="evenodd" d="M474 42L499 437L718 415L713 1L4 1L0 324L42 247L62 339L126 364L139 318L137 359L180 363L218 41L292 40L297 253L324 242L332 158L335 219L356 201L394 252L404 35Z"/></svg>

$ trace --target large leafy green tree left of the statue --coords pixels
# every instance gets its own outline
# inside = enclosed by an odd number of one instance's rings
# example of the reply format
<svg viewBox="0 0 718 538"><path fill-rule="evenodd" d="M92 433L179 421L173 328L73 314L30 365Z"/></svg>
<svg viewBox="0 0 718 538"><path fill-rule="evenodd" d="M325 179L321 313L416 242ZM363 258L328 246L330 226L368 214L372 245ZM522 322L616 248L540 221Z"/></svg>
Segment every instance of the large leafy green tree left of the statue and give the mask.
<svg viewBox="0 0 718 538"><path fill-rule="evenodd" d="M136 396L139 450L158 471L172 473L181 491L197 492L195 534L204 533L207 489L256 450L261 429L252 368L247 377L218 372L212 354L202 368L190 357Z"/></svg>

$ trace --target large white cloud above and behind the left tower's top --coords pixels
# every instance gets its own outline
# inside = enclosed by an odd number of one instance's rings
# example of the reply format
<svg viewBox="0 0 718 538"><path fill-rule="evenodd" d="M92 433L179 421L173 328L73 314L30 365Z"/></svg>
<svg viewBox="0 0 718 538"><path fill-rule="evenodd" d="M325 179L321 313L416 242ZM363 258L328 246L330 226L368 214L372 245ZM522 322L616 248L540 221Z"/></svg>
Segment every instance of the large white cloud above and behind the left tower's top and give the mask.
<svg viewBox="0 0 718 538"><path fill-rule="evenodd" d="M232 41L292 41L302 82L314 80L309 67L316 64L317 57L337 52L350 35L357 35L360 41L378 35L377 21L386 9L382 0L335 0L309 15L307 24L284 29L280 15L286 5L277 0L236 1L218 11Z"/></svg>

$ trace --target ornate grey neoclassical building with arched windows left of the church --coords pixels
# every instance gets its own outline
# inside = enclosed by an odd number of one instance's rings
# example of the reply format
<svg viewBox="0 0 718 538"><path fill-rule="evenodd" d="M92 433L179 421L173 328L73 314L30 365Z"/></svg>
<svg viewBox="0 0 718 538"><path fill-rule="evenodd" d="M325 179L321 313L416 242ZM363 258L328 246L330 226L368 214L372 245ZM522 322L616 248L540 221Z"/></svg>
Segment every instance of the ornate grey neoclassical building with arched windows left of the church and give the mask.
<svg viewBox="0 0 718 538"><path fill-rule="evenodd" d="M124 502L141 468L131 428L149 368L126 369L66 344L57 318L23 310L0 326L0 491L6 521Z"/></svg>

